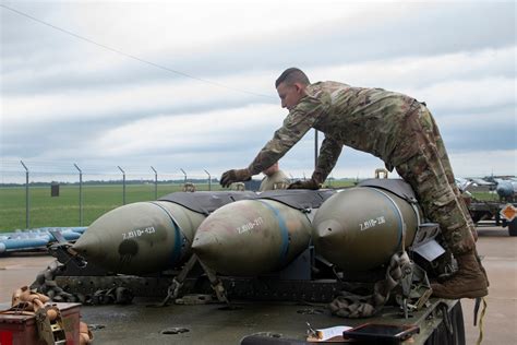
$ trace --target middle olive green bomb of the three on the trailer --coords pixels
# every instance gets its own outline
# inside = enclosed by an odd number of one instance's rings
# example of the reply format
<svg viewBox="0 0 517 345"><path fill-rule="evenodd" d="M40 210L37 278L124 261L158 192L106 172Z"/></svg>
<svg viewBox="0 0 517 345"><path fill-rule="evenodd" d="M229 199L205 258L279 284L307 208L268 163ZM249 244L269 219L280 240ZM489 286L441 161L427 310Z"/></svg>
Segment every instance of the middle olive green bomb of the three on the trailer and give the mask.
<svg viewBox="0 0 517 345"><path fill-rule="evenodd" d="M305 213L274 200L241 200L212 213L197 228L192 250L212 270L232 276L278 271L311 240Z"/></svg>

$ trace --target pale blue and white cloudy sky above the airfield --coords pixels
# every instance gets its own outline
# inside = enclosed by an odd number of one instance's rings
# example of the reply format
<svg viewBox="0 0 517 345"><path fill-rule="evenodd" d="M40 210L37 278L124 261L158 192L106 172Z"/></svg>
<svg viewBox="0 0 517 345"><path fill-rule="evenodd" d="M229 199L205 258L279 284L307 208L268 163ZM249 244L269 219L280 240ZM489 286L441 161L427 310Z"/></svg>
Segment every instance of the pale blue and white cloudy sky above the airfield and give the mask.
<svg viewBox="0 0 517 345"><path fill-rule="evenodd" d="M287 115L274 81L293 66L425 102L457 176L517 174L514 1L0 4L2 181L20 160L56 174L245 167ZM281 167L310 176L313 147L311 131ZM345 148L333 176L382 166Z"/></svg>

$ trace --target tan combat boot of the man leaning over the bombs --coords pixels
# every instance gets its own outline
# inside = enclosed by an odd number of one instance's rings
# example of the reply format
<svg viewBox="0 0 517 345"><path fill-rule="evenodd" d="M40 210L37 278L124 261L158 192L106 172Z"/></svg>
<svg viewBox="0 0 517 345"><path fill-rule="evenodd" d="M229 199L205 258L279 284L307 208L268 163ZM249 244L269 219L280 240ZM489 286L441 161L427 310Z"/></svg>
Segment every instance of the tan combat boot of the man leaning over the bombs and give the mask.
<svg viewBox="0 0 517 345"><path fill-rule="evenodd" d="M489 295L488 278L474 251L457 255L458 272L443 284L431 284L433 296L447 299L477 298Z"/></svg>

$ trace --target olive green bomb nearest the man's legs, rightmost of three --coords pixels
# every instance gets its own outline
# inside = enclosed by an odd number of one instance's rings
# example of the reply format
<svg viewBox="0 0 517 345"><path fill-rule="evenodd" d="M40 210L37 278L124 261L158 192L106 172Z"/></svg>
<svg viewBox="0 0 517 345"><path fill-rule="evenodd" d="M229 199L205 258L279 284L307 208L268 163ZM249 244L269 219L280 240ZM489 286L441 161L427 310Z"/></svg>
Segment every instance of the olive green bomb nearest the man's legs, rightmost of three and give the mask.
<svg viewBox="0 0 517 345"><path fill-rule="evenodd" d="M314 216L315 251L346 272L372 270L411 245L420 216L417 206L385 189L346 189Z"/></svg>

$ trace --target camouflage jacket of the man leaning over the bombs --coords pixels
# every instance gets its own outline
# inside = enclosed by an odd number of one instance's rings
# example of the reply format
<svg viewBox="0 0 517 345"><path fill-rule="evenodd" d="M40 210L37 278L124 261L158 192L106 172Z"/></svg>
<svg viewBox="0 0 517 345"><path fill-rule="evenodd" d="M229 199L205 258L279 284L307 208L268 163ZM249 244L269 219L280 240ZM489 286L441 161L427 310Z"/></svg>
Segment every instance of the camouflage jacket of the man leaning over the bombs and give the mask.
<svg viewBox="0 0 517 345"><path fill-rule="evenodd" d="M417 153L411 132L405 128L409 110L420 107L414 98L337 82L314 83L305 92L306 96L289 111L282 127L249 166L252 175L280 159L311 128L325 134L315 170L322 182L344 145L380 157L390 170Z"/></svg>

